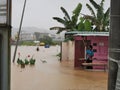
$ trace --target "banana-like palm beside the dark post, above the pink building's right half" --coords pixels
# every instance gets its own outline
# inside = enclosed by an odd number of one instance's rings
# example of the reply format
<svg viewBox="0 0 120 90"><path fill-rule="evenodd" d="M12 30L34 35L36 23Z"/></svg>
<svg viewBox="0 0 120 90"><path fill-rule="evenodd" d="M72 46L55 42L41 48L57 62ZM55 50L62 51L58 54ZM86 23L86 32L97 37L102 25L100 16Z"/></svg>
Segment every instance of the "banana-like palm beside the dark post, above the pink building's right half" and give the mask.
<svg viewBox="0 0 120 90"><path fill-rule="evenodd" d="M89 0L92 6L97 12L95 13L91 5L86 4L87 8L90 10L91 15L84 15L84 18L91 20L92 25L95 27L95 31L109 31L109 10L104 12L104 0L100 4L97 4L94 0Z"/></svg>

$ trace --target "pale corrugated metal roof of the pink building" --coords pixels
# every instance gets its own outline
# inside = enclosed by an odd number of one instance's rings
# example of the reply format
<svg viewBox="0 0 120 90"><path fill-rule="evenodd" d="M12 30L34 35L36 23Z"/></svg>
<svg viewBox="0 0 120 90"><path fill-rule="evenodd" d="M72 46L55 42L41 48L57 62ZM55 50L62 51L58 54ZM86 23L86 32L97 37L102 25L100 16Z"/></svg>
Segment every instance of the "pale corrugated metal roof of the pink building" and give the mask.
<svg viewBox="0 0 120 90"><path fill-rule="evenodd" d="M65 34L73 34L74 36L109 36L109 32L90 32L90 31L71 31Z"/></svg>

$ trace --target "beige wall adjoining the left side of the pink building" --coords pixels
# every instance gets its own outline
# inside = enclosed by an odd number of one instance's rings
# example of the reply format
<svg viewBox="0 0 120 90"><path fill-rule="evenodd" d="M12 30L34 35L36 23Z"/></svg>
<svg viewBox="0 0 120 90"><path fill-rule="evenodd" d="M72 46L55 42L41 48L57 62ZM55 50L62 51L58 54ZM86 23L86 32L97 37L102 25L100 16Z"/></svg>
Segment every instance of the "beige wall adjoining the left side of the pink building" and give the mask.
<svg viewBox="0 0 120 90"><path fill-rule="evenodd" d="M74 41L62 42L62 61L74 60L75 43Z"/></svg>

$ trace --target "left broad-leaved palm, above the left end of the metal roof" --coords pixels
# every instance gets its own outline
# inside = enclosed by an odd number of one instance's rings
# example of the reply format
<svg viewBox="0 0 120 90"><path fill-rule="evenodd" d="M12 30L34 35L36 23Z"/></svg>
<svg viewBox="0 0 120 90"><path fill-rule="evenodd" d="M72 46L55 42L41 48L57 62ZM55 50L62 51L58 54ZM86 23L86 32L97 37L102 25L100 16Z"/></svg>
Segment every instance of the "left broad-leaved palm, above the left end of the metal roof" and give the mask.
<svg viewBox="0 0 120 90"><path fill-rule="evenodd" d="M68 12L63 7L61 7L61 10L65 16L63 18L53 17L53 19L63 24L64 27L55 26L55 27L51 27L50 30L58 30L57 33L61 33L62 31L68 32L68 31L76 30L81 9L82 9L82 4L79 3L77 7L73 10L72 17L70 17Z"/></svg>

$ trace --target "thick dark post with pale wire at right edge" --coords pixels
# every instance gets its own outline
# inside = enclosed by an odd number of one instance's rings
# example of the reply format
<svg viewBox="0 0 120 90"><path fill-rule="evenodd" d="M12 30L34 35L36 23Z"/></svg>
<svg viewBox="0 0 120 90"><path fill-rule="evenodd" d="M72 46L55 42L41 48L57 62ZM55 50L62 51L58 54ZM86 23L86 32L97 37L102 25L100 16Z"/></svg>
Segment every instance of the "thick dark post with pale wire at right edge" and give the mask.
<svg viewBox="0 0 120 90"><path fill-rule="evenodd" d="M108 90L120 90L120 0L111 0Z"/></svg>

